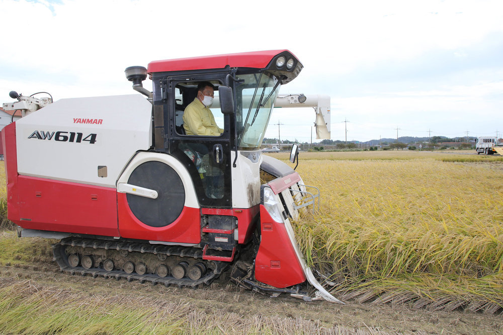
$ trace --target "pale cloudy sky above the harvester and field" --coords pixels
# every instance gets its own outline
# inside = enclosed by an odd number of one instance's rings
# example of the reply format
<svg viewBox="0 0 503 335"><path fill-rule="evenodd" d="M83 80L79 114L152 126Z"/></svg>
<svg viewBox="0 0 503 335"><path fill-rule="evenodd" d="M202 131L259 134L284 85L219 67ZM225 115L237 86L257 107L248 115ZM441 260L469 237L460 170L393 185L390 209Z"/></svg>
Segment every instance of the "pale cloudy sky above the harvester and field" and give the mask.
<svg viewBox="0 0 503 335"><path fill-rule="evenodd" d="M330 96L332 140L503 134L501 0L0 0L0 13L0 102L131 94L128 66L288 49L304 69L280 94ZM276 108L266 137L316 142L314 121Z"/></svg>

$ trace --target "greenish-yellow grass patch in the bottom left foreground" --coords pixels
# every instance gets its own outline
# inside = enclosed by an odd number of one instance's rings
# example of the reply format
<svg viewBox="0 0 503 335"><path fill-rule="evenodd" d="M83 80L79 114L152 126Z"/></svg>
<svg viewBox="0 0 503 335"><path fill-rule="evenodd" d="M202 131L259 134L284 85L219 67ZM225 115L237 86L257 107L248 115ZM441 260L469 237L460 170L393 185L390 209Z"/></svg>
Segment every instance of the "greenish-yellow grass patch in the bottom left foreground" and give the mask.
<svg viewBox="0 0 503 335"><path fill-rule="evenodd" d="M0 332L16 334L180 333L182 303L153 306L127 297L89 297L57 287L40 291L29 281L0 286Z"/></svg>

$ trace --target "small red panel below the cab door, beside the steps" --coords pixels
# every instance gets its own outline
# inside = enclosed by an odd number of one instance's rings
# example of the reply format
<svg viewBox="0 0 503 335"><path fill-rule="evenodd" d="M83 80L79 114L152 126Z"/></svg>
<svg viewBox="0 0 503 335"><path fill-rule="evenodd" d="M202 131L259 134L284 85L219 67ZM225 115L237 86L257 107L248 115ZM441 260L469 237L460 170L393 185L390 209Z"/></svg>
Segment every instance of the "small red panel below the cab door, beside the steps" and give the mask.
<svg viewBox="0 0 503 335"><path fill-rule="evenodd" d="M246 244L255 229L255 220L259 214L259 205L251 208L201 208L205 215L229 215L237 217L237 235L239 244Z"/></svg>

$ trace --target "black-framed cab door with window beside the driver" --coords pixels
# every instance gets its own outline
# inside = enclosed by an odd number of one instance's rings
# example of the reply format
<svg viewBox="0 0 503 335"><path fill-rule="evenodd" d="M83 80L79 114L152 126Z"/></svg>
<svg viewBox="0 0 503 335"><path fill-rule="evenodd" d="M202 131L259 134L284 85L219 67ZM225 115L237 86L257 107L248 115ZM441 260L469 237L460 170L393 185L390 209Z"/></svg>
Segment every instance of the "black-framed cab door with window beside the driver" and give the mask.
<svg viewBox="0 0 503 335"><path fill-rule="evenodd" d="M210 105L215 122L224 132L220 136L198 136L185 134L183 114L185 107L194 101L199 82L211 82L217 97L218 86L223 83L224 75L167 78L170 154L187 167L202 207L232 207L231 118L224 116L217 104Z"/></svg>

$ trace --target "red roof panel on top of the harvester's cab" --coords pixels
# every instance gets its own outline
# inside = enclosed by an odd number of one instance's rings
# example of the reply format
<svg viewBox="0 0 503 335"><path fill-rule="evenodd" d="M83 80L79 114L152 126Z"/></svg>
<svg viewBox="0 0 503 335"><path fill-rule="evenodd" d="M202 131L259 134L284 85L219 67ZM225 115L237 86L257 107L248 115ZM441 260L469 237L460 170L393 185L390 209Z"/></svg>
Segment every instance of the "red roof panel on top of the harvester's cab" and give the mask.
<svg viewBox="0 0 503 335"><path fill-rule="evenodd" d="M148 64L148 73L165 71L187 71L201 69L222 69L230 67L265 68L274 56L288 50L268 50L227 55L157 60Z"/></svg>

